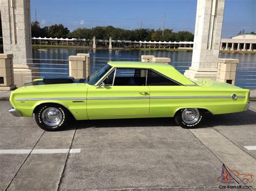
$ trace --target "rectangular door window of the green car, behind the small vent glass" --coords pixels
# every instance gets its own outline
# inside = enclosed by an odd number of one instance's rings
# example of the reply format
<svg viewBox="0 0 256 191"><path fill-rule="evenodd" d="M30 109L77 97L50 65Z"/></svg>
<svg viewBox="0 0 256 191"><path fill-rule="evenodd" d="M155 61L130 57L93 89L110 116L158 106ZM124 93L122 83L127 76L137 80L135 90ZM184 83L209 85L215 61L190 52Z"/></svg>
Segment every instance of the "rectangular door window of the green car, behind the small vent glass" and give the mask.
<svg viewBox="0 0 256 191"><path fill-rule="evenodd" d="M146 70L117 68L114 86L146 86Z"/></svg>

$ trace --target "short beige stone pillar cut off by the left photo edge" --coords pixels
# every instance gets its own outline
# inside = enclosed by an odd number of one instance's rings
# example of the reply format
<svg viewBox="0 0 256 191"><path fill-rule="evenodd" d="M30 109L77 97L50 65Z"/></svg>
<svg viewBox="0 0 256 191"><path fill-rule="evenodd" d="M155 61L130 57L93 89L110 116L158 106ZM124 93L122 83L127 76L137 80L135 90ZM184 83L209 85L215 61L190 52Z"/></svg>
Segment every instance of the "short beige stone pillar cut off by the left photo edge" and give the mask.
<svg viewBox="0 0 256 191"><path fill-rule="evenodd" d="M0 90L16 88L12 57L12 54L0 54Z"/></svg>

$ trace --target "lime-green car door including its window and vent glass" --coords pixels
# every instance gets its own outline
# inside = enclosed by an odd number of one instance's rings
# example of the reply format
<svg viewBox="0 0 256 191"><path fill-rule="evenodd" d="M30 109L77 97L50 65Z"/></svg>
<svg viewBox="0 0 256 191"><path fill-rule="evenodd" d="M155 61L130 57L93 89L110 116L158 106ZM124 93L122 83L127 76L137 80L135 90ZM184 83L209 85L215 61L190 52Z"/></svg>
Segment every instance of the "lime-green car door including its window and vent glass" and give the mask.
<svg viewBox="0 0 256 191"><path fill-rule="evenodd" d="M146 70L116 68L100 83L87 91L89 118L149 115L150 90Z"/></svg>

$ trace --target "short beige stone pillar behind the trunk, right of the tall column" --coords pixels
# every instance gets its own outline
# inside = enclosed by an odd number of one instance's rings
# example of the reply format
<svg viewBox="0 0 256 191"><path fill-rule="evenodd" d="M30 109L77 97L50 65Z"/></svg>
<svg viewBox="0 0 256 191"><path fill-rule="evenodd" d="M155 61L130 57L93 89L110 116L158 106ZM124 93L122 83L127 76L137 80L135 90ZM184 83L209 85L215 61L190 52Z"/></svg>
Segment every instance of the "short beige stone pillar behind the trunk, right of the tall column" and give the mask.
<svg viewBox="0 0 256 191"><path fill-rule="evenodd" d="M235 84L238 59L219 59L217 81Z"/></svg>

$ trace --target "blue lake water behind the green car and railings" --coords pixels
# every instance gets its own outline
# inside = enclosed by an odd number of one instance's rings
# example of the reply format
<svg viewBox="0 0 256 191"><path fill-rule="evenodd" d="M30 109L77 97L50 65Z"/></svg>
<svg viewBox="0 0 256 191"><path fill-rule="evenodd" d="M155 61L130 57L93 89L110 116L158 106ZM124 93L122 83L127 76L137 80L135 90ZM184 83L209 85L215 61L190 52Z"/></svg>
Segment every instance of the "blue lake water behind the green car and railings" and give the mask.
<svg viewBox="0 0 256 191"><path fill-rule="evenodd" d="M33 63L57 63L61 65L35 65L40 69L42 77L69 76L68 58L77 53L90 53L91 73L104 66L107 61L139 61L141 55L154 55L156 57L171 58L171 65L179 72L184 73L191 66L192 52L169 52L169 51L126 51L109 52L108 50L83 50L75 48L47 48L47 51L33 49ZM256 89L256 54L223 54L220 58L239 59L237 69L236 86ZM56 60L54 60L56 59ZM54 69L52 69L54 68ZM57 74L53 74L57 73Z"/></svg>

